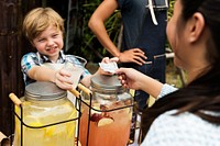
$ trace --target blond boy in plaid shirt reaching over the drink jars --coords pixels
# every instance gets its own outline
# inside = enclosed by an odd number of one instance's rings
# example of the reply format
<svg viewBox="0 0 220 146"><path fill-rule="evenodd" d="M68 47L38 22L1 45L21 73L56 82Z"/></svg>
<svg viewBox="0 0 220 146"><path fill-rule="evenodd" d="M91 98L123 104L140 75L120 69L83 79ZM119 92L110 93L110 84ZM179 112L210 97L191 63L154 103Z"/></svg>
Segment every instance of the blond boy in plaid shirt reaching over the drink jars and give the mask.
<svg viewBox="0 0 220 146"><path fill-rule="evenodd" d="M23 33L33 47L35 53L28 53L21 59L21 69L25 85L34 81L51 81L59 88L70 90L73 80L70 72L66 69L51 69L43 66L45 63L65 64L70 61L79 65L79 60L73 55L65 55L64 47L64 20L52 8L35 8L31 10L23 21ZM102 61L105 61L103 58ZM109 58L107 59L109 61ZM105 74L98 69L97 74ZM90 78L95 75L82 68L80 82L88 87Z"/></svg>

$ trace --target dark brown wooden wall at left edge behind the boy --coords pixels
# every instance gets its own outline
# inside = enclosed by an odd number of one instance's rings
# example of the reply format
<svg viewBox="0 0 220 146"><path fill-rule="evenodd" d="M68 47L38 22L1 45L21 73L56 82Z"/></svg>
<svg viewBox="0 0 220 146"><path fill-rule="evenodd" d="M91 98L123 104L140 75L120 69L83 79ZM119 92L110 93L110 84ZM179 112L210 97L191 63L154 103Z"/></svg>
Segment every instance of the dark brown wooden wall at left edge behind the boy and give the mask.
<svg viewBox="0 0 220 146"><path fill-rule="evenodd" d="M9 93L21 97L24 92L20 60L30 47L22 37L22 19L37 1L0 0L0 132L7 136L13 133L14 117Z"/></svg>

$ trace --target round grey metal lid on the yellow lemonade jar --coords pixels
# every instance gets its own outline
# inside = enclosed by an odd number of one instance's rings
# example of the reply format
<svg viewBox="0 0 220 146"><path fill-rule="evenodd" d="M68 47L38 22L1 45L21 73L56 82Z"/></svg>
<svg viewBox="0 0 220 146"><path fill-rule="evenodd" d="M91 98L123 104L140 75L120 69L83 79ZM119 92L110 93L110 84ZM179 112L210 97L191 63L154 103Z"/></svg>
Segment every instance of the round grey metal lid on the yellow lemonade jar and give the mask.
<svg viewBox="0 0 220 146"><path fill-rule="evenodd" d="M66 94L67 91L47 81L36 81L25 87L25 97L32 100L56 100Z"/></svg>

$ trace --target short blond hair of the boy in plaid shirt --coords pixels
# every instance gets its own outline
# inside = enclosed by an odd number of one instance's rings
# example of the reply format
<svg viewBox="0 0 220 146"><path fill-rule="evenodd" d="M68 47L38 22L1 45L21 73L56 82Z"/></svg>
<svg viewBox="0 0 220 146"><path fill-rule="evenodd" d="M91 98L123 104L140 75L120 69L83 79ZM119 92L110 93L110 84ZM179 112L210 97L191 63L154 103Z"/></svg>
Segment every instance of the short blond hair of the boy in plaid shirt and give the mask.
<svg viewBox="0 0 220 146"><path fill-rule="evenodd" d="M64 34L64 19L56 11L52 8L35 8L24 18L23 33L30 42L33 42L50 25L56 26Z"/></svg>

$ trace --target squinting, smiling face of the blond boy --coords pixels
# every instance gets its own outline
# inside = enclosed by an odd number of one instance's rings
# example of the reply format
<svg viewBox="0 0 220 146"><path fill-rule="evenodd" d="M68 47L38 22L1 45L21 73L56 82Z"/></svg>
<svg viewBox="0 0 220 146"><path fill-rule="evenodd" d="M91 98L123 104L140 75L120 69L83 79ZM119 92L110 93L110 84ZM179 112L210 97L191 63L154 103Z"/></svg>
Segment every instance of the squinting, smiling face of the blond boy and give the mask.
<svg viewBox="0 0 220 146"><path fill-rule="evenodd" d="M56 63L59 52L64 47L63 32L54 25L50 25L33 42L33 46L40 54L46 55L50 60Z"/></svg>

